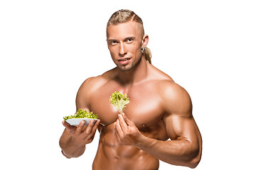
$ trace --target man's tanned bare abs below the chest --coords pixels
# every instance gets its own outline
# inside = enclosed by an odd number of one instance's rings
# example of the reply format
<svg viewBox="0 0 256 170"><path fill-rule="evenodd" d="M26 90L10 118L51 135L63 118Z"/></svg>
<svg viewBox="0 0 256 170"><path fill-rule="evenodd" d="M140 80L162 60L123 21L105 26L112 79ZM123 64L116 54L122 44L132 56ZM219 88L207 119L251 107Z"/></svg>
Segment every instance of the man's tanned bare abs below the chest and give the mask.
<svg viewBox="0 0 256 170"><path fill-rule="evenodd" d="M102 127L99 147L93 170L156 170L159 160L146 152L130 145L119 145L114 137L114 123Z"/></svg>

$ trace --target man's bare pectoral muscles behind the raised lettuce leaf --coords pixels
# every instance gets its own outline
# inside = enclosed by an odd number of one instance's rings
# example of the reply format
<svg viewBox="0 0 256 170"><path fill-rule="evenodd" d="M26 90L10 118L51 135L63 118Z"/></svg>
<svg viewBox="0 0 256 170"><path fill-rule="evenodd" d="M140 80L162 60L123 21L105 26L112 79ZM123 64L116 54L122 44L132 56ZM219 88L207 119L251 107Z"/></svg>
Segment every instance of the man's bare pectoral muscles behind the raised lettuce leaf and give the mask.
<svg viewBox="0 0 256 170"><path fill-rule="evenodd" d="M121 86L106 84L90 98L90 111L98 115L103 125L110 125L117 120L117 108L110 103L110 96L114 91L120 91L129 97L130 102L123 112L138 128L154 126L163 117L161 97L155 86L138 85L124 89Z"/></svg>

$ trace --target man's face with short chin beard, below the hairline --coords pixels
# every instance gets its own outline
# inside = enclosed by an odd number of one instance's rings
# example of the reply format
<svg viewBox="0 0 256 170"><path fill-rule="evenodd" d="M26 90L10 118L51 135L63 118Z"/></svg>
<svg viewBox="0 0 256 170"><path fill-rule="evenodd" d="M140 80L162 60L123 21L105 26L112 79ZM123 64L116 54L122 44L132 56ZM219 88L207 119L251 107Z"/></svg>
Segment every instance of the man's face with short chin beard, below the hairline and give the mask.
<svg viewBox="0 0 256 170"><path fill-rule="evenodd" d="M107 46L114 64L121 71L133 69L142 59L142 24L129 21L107 27Z"/></svg>

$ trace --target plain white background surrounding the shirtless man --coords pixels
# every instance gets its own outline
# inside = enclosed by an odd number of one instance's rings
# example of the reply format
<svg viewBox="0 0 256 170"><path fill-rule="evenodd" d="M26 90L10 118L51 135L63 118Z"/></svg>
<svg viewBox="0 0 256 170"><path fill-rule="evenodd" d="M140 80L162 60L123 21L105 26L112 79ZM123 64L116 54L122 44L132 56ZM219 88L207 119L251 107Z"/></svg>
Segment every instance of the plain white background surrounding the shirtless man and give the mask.
<svg viewBox="0 0 256 170"><path fill-rule="evenodd" d="M99 134L65 159L61 121L82 81L114 67L105 28L121 8L144 21L154 66L191 95L203 136L196 169L253 169L256 6L246 0L1 1L1 166L91 169Z"/></svg>

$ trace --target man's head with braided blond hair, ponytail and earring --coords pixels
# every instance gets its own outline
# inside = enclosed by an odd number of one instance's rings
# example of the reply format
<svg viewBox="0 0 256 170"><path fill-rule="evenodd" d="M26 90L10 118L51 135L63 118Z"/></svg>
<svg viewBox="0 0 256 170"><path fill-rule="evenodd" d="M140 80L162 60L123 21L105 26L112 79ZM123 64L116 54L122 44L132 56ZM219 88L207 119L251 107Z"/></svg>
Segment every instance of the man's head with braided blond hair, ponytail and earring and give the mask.
<svg viewBox="0 0 256 170"><path fill-rule="evenodd" d="M107 45L112 60L119 69L127 71L138 64L142 56L151 63L151 53L146 47L148 35L144 35L142 19L133 11L119 10L107 23Z"/></svg>

